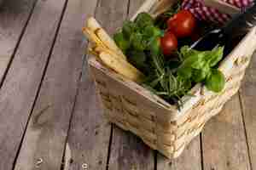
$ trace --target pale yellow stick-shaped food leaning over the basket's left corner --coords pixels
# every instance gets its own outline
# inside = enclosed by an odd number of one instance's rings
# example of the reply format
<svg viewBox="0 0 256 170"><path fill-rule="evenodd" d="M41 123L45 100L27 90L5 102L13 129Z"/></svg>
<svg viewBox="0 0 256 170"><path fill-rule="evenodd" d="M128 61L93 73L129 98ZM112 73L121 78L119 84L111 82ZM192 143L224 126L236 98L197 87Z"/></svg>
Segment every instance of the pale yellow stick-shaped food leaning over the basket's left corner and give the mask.
<svg viewBox="0 0 256 170"><path fill-rule="evenodd" d="M127 61L125 54L93 17L87 20L83 32L90 41L90 53L94 54L103 65L134 82L143 80L143 73Z"/></svg>

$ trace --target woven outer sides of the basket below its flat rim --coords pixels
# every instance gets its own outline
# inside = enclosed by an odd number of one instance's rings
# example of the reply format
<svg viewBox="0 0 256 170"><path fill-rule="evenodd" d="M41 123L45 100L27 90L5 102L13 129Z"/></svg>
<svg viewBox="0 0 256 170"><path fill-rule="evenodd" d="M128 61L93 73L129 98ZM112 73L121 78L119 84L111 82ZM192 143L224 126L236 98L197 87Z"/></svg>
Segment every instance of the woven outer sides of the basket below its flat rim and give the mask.
<svg viewBox="0 0 256 170"><path fill-rule="evenodd" d="M154 105L154 102L144 99L129 86L125 86L123 83L127 82L121 77L119 80L109 77L105 68L99 65L97 69L91 66L91 71L95 76L97 92L102 99L108 120L137 134L154 150L174 158L181 154L191 139L201 133L205 123L221 111L226 101L236 94L249 59L243 59L239 64L238 59L236 60L231 70L233 74L226 78L222 93L204 95L201 88L201 98L177 120L168 118L163 114L166 111L162 111L163 109ZM139 93L143 90L140 87L136 88Z"/></svg>

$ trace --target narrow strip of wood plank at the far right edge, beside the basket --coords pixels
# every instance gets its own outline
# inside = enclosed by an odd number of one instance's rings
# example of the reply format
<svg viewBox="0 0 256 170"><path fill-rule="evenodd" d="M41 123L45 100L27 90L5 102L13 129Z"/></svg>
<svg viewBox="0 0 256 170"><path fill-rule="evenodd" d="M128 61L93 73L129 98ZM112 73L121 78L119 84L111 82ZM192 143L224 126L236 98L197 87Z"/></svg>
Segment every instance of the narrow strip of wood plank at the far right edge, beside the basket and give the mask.
<svg viewBox="0 0 256 170"><path fill-rule="evenodd" d="M256 169L256 54L253 54L251 64L241 86L241 105L244 124L247 133L248 152L251 158L252 169Z"/></svg>

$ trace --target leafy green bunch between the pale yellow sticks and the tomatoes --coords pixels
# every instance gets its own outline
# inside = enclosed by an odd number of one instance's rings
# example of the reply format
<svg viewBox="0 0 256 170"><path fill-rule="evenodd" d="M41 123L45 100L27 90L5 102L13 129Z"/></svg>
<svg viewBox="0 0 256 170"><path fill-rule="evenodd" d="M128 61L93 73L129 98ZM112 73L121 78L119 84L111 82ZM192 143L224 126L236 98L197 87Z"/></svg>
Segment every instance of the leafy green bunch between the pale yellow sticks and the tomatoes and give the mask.
<svg viewBox="0 0 256 170"><path fill-rule="evenodd" d="M158 53L159 39L163 35L164 31L154 26L154 19L147 13L141 13L134 22L125 21L113 39L128 57L129 62L147 76L152 71L148 51Z"/></svg>

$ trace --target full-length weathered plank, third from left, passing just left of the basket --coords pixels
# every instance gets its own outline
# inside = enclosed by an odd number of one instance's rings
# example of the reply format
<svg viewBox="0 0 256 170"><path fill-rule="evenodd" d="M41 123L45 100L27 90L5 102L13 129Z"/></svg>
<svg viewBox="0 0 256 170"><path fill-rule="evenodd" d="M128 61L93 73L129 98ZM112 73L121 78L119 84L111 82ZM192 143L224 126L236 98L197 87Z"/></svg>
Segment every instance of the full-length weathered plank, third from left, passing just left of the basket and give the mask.
<svg viewBox="0 0 256 170"><path fill-rule="evenodd" d="M59 3L61 3L59 1ZM83 67L84 19L94 14L96 1L68 1L44 82L28 124L16 170L61 169L67 131ZM45 107L49 108L42 112ZM76 132L78 135L83 132Z"/></svg>

